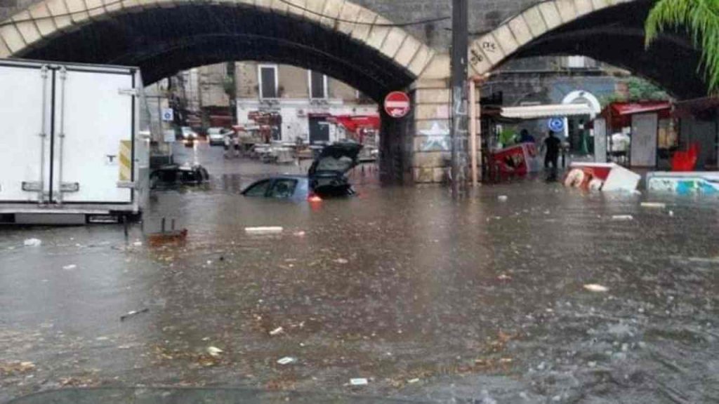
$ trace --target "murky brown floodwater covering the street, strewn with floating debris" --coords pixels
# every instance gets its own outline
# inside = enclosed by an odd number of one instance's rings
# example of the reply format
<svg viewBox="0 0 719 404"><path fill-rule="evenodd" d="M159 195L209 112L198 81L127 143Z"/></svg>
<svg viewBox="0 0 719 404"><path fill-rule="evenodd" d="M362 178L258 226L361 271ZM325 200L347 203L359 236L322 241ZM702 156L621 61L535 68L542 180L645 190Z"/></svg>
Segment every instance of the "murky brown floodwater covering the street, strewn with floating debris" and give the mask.
<svg viewBox="0 0 719 404"><path fill-rule="evenodd" d="M1 230L0 401L71 386L719 400L716 199L526 180L452 201L383 188L365 167L357 198L288 203L239 190L298 167L204 145L197 158L212 183L155 193L127 239L114 225ZM148 245L162 217L185 244Z"/></svg>

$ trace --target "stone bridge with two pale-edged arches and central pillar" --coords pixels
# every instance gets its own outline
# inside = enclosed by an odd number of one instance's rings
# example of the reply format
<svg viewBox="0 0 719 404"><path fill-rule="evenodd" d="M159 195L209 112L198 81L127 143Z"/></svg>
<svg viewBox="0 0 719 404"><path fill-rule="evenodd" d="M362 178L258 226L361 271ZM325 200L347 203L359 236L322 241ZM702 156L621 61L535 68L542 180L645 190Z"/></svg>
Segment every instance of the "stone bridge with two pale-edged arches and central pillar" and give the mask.
<svg viewBox="0 0 719 404"><path fill-rule="evenodd" d="M145 83L227 60L319 70L381 101L406 89L414 108L383 116L382 171L444 180L449 150L451 0L5 0L0 58L137 65ZM644 48L653 0L470 0L470 75L513 58L586 55L677 98L705 95L699 53L682 32ZM421 24L407 24L421 22Z"/></svg>

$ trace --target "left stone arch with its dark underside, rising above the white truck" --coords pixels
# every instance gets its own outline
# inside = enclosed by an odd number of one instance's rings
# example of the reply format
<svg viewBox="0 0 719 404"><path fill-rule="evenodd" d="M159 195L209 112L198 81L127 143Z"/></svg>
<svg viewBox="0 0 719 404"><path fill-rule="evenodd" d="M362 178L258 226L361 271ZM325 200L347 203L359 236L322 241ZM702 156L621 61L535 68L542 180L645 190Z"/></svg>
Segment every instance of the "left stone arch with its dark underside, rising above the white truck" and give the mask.
<svg viewBox="0 0 719 404"><path fill-rule="evenodd" d="M42 0L0 22L0 58L133 65L145 84L229 60L285 63L377 102L449 70L446 55L351 0ZM383 116L383 178L419 164L416 121Z"/></svg>

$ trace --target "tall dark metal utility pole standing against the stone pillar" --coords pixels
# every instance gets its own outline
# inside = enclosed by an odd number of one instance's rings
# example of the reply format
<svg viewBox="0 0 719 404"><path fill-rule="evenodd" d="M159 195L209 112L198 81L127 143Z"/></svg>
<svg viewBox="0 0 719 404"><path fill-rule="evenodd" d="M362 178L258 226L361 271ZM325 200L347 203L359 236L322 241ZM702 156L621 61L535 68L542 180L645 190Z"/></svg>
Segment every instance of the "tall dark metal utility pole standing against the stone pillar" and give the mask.
<svg viewBox="0 0 719 404"><path fill-rule="evenodd" d="M467 0L452 0L452 197L467 185Z"/></svg>

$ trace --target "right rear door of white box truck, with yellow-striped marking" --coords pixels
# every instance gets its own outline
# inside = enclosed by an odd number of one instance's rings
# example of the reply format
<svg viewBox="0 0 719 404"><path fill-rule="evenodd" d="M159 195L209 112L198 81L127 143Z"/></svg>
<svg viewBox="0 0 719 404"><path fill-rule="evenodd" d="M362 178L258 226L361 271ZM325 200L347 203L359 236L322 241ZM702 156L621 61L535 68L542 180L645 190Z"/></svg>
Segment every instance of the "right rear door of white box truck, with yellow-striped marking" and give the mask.
<svg viewBox="0 0 719 404"><path fill-rule="evenodd" d="M134 72L96 69L56 72L53 202L132 202Z"/></svg>

